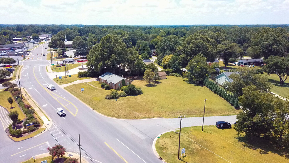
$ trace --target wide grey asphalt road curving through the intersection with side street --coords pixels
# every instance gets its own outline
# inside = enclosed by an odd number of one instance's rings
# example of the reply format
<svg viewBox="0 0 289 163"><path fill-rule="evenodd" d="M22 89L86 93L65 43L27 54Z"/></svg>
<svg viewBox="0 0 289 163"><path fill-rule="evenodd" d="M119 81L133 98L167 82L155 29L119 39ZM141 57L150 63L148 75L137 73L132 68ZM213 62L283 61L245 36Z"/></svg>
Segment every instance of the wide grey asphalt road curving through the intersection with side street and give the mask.
<svg viewBox="0 0 289 163"><path fill-rule="evenodd" d="M46 66L51 62L46 61L46 56L39 56L47 52L48 44L43 46L31 51L32 56L22 61L20 82L54 124L38 137L21 142L11 141L0 128L0 151L4 156L0 157L0 162L22 162L45 153L44 148L57 143L68 152L79 153L78 134L84 149L81 154L89 162L162 162L153 153L153 140L162 132L178 128L178 118L122 120L96 113L48 77ZM56 90L48 90L47 84L55 85ZM66 117L56 113L59 107L64 109ZM113 106L107 109L117 112ZM202 117L184 118L182 127L200 126L202 120ZM205 117L204 124L213 125L220 120L234 123L236 116Z"/></svg>

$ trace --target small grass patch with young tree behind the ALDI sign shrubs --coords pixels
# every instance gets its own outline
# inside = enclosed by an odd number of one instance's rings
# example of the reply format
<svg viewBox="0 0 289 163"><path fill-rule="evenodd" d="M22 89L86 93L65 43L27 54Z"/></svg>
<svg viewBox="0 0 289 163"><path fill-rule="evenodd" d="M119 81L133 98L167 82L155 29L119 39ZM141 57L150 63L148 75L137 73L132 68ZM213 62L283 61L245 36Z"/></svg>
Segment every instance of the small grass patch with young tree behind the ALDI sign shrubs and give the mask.
<svg viewBox="0 0 289 163"><path fill-rule="evenodd" d="M4 89L0 90L0 105L8 110L8 112L16 110L19 113L19 119L25 119L25 115L22 110L18 107L17 102L13 101L12 107L11 104L7 101L8 97L12 97L9 91L4 91ZM12 97L13 99L13 97ZM12 108L12 109L11 109Z"/></svg>

